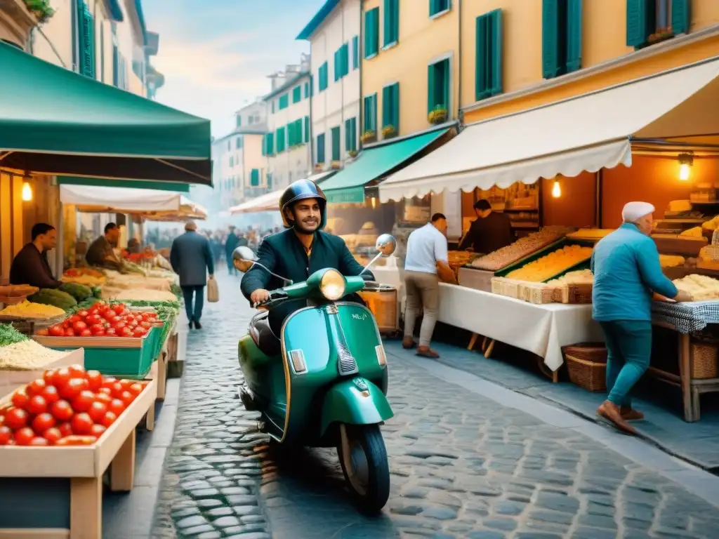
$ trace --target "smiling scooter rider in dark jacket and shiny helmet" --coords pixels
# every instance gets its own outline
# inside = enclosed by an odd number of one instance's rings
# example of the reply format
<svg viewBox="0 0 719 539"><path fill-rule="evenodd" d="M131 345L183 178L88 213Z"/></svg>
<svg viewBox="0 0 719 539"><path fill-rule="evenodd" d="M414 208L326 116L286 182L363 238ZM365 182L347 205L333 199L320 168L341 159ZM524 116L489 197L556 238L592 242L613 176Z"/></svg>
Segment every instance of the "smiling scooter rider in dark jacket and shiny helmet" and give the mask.
<svg viewBox="0 0 719 539"><path fill-rule="evenodd" d="M359 275L364 268L354 259L344 240L321 231L326 223L326 197L311 180L291 184L280 198L285 231L267 236L257 257L267 270L293 282L302 282L318 270L334 268L348 277ZM374 280L370 272L362 274ZM270 298L269 290L286 283L273 277L260 266L253 266L242 277L242 294L252 305ZM359 295L344 300L362 303ZM288 300L270 310L269 322L275 336L280 336L282 324L291 313L307 306L306 300Z"/></svg>

